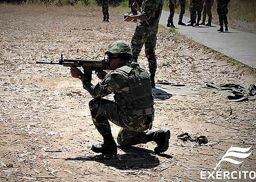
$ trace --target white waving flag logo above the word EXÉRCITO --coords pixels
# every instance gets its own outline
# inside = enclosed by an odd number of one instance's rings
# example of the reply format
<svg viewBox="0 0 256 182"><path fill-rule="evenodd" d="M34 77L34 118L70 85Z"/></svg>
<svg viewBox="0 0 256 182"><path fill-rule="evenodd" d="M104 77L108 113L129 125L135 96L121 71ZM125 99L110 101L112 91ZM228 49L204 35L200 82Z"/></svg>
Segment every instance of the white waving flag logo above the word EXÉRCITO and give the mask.
<svg viewBox="0 0 256 182"><path fill-rule="evenodd" d="M236 160L231 159L229 157L237 157L237 158L249 157L249 155L251 155L252 151L250 153L246 153L246 152L248 152L251 148L252 148L252 146L249 147L249 148L240 148L240 147L233 147L233 146L231 146L229 148L229 150L227 150L226 154L223 155L223 157L221 158L221 161L219 161L219 163L216 164L216 167L214 168L214 170L216 170L217 167L220 166L222 161L231 162L233 164L241 164L243 161L236 161Z"/></svg>

